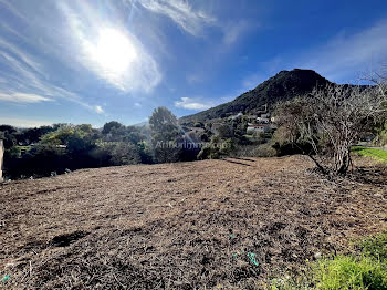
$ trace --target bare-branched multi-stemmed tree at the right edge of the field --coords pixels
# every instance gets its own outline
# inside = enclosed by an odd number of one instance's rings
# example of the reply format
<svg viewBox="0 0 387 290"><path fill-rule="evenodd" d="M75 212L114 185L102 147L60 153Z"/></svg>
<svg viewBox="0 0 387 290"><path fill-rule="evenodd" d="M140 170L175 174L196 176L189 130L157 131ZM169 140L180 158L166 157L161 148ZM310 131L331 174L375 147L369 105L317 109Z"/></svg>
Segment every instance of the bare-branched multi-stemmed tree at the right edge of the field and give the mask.
<svg viewBox="0 0 387 290"><path fill-rule="evenodd" d="M386 117L386 82L376 85L330 84L279 104L274 120L294 144L308 144L307 154L323 173L345 175L351 148Z"/></svg>

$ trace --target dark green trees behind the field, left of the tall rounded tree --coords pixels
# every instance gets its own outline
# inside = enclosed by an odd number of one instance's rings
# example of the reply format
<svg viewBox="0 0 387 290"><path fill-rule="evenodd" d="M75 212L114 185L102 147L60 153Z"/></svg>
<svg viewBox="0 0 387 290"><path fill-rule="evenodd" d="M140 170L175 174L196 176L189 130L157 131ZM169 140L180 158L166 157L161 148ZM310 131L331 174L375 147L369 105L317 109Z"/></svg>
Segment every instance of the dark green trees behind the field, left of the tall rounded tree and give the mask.
<svg viewBox="0 0 387 290"><path fill-rule="evenodd" d="M105 133L88 124L55 124L40 128L17 130L0 126L7 136L4 175L48 176L52 172L64 173L66 168L88 168L114 165L151 163L146 130L109 122ZM20 144L31 144L19 146Z"/></svg>

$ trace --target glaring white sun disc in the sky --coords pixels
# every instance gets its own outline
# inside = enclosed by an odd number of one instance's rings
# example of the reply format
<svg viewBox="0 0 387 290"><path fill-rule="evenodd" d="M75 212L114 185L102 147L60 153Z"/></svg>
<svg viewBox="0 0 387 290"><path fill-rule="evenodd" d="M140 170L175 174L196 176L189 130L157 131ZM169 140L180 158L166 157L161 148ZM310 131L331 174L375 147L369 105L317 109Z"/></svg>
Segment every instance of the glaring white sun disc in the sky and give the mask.
<svg viewBox="0 0 387 290"><path fill-rule="evenodd" d="M101 30L92 54L100 66L113 75L123 74L137 58L129 37L115 29Z"/></svg>

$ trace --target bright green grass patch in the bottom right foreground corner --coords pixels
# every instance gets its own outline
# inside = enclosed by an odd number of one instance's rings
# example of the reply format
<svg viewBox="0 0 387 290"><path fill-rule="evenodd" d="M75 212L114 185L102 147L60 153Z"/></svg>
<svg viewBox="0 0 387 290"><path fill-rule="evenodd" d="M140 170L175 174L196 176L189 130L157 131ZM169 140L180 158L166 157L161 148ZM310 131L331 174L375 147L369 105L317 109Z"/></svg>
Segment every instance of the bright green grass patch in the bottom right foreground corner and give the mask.
<svg viewBox="0 0 387 290"><path fill-rule="evenodd" d="M387 231L362 240L355 252L337 255L312 262L296 280L272 281L272 290L386 290Z"/></svg>

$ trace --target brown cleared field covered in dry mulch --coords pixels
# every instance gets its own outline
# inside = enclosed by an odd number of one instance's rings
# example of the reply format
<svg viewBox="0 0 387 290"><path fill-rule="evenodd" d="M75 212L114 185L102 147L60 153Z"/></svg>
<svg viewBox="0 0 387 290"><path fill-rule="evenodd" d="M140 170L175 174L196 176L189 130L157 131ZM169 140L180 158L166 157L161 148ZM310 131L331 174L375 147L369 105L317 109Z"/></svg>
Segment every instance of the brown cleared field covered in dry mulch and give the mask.
<svg viewBox="0 0 387 290"><path fill-rule="evenodd" d="M385 168L334 182L312 167L203 160L0 185L0 288L257 289L387 227Z"/></svg>

